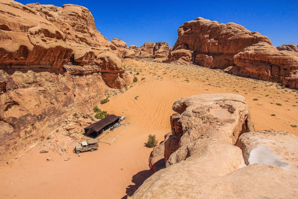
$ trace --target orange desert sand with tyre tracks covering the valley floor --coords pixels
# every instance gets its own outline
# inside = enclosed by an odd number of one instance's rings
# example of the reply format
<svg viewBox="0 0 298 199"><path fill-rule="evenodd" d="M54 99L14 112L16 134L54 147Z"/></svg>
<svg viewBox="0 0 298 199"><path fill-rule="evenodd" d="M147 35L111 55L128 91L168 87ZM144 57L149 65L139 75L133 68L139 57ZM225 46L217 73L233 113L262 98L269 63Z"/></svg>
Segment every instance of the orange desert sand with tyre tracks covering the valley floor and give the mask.
<svg viewBox="0 0 298 199"><path fill-rule="evenodd" d="M190 95L243 95L256 130L276 129L298 135L298 129L291 127L298 124L298 95L292 89L195 65L131 59L123 60L123 64L138 81L124 93L111 96L100 108L126 116L124 122L131 125L111 145L100 143L99 150L82 152L80 157L71 151L64 157L52 151L40 154L42 145L32 148L0 169L0 198L125 198L127 194L132 195L152 175L148 166L152 149L144 146L148 135L154 134L159 142L163 141L164 134L170 132L174 101ZM46 161L47 157L52 161ZM64 161L65 158L70 160Z"/></svg>

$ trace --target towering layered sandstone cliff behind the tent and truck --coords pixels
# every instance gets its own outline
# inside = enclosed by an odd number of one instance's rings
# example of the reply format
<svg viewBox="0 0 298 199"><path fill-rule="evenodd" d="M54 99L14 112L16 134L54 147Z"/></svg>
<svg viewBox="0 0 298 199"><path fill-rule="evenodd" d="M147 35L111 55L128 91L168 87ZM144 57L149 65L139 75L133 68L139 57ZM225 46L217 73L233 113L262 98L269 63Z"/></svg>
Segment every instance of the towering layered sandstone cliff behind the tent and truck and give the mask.
<svg viewBox="0 0 298 199"><path fill-rule="evenodd" d="M0 157L43 139L74 110L91 111L108 85L132 77L117 47L81 6L0 2ZM114 50L114 51L113 51ZM115 53L114 53L115 52ZM11 159L9 160L11 161Z"/></svg>

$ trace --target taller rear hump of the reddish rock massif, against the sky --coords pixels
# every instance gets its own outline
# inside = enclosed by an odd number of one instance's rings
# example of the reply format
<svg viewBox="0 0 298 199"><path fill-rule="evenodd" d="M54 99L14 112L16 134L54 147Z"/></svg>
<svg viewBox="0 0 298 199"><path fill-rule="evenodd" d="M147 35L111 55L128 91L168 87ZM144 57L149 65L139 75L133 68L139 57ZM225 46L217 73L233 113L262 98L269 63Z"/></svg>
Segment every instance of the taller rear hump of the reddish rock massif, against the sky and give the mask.
<svg viewBox="0 0 298 199"><path fill-rule="evenodd" d="M226 68L232 65L235 54L259 41L271 44L268 37L246 30L241 25L223 24L199 17L179 27L178 39L172 51L192 51L192 61L199 65L205 64L205 55L211 56L208 67Z"/></svg>

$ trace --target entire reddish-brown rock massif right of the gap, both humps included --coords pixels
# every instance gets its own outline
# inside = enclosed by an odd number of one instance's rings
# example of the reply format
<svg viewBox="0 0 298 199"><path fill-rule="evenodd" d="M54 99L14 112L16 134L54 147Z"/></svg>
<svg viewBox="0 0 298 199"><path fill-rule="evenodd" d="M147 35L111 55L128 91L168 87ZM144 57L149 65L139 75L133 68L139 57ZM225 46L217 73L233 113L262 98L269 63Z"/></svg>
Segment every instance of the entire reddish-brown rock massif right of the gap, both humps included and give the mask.
<svg viewBox="0 0 298 199"><path fill-rule="evenodd" d="M292 75L298 68L295 49L290 44L279 47L287 52L279 51L268 37L258 32L235 23L223 24L199 17L179 27L176 44L164 62L195 63L298 87L298 79Z"/></svg>

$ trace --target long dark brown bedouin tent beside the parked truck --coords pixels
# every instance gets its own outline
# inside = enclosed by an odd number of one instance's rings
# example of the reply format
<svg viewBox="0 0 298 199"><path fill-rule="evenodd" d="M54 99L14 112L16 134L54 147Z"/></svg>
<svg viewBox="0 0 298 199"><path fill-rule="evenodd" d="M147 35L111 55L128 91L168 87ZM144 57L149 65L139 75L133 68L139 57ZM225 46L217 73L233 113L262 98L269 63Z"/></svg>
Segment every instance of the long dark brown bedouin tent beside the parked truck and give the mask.
<svg viewBox="0 0 298 199"><path fill-rule="evenodd" d="M117 121L117 120L119 121L119 118L120 118L119 116L114 115L114 114L107 115L107 116L105 116L105 118L101 119L100 121L97 121L97 122L89 125L88 127L84 128L85 135L87 136L93 132L96 132L97 136L98 136L99 135L98 132L101 133L101 131L104 128L106 130L107 126L109 126L110 124L114 124L115 121ZM90 131L90 129L91 129L91 131Z"/></svg>

